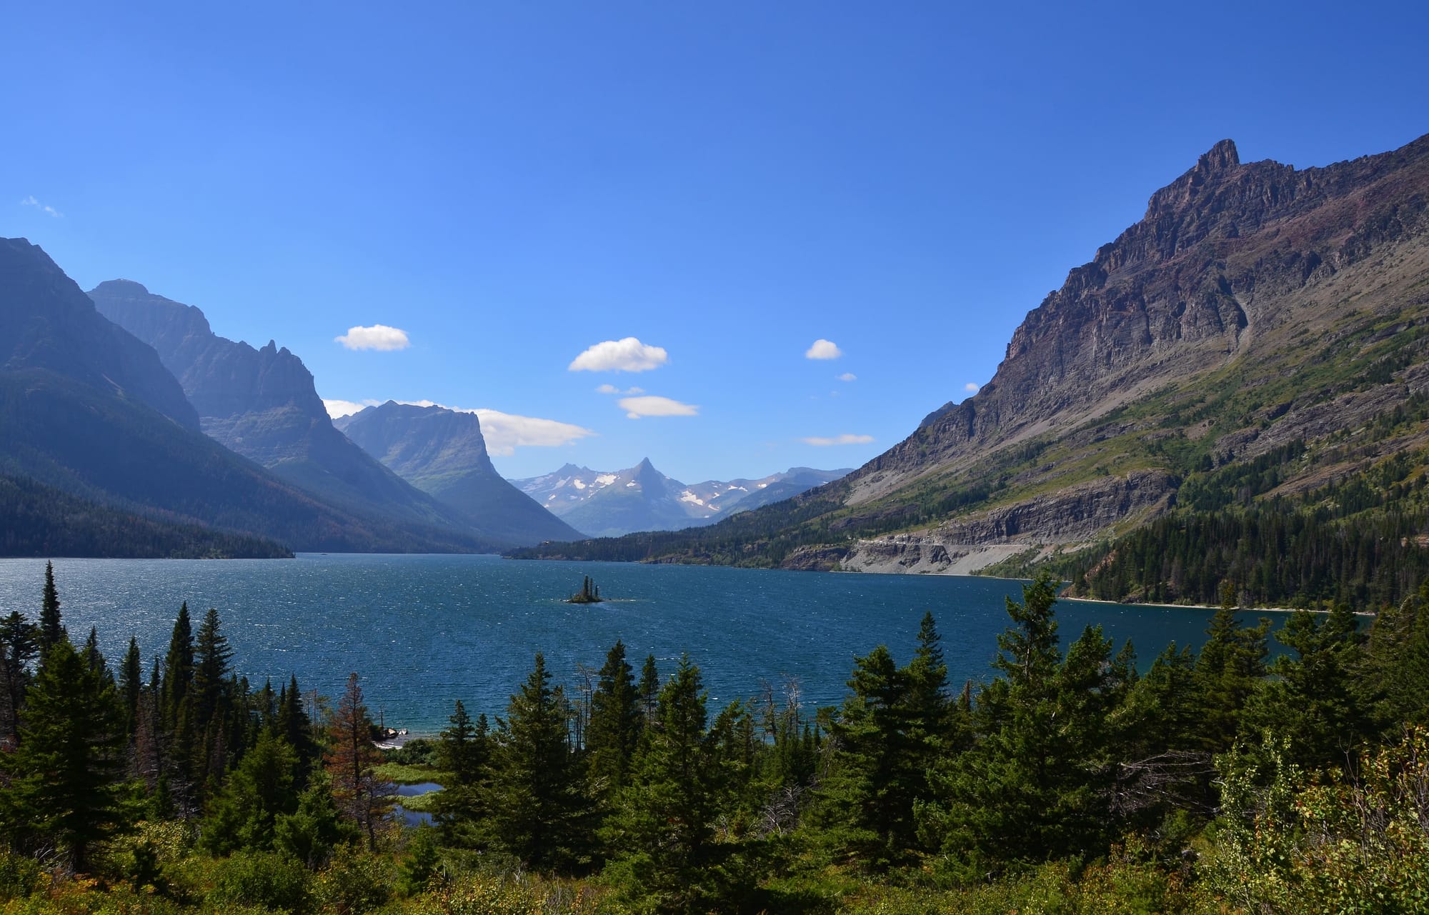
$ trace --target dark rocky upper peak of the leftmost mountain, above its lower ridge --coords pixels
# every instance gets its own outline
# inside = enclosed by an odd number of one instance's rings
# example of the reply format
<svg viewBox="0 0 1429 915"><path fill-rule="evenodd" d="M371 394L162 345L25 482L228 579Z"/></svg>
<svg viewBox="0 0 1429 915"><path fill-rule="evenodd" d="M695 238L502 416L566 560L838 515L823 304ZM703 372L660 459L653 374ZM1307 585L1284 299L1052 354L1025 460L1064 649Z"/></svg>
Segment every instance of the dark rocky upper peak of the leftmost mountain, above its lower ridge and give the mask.
<svg viewBox="0 0 1429 915"><path fill-rule="evenodd" d="M199 427L153 347L106 320L74 280L24 239L0 239L0 369L56 372Z"/></svg>

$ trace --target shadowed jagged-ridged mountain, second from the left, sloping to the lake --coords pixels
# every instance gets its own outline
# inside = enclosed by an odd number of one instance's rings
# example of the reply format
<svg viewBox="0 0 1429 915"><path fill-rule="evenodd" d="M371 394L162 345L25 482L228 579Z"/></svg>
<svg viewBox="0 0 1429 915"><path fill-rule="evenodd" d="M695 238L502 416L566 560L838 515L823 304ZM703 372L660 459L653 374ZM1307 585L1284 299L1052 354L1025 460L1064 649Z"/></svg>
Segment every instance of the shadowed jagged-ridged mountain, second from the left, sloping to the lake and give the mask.
<svg viewBox="0 0 1429 915"><path fill-rule="evenodd" d="M312 373L286 347L269 342L253 349L220 337L199 309L130 280L100 283L89 295L100 313L159 352L203 430L226 447L334 505L404 522L469 526L334 429Z"/></svg>

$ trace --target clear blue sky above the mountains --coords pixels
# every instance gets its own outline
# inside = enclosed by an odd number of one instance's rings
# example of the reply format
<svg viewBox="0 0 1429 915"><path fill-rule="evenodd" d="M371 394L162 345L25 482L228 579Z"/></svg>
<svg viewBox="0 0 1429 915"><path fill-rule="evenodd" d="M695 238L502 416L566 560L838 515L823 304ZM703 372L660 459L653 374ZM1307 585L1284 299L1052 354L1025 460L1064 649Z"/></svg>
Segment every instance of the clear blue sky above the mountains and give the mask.
<svg viewBox="0 0 1429 915"><path fill-rule="evenodd" d="M324 397L494 410L507 476L857 466L1216 140L1303 167L1429 132L1423 3L11 4L4 31L0 234L276 339ZM337 342L374 326L404 346Z"/></svg>

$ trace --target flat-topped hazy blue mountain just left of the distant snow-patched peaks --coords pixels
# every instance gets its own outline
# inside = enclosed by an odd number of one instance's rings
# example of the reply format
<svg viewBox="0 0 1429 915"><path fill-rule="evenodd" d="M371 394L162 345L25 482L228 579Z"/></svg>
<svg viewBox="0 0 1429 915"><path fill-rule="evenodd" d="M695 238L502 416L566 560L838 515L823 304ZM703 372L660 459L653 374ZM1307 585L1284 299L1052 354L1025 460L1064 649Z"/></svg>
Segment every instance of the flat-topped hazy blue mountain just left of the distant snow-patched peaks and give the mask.
<svg viewBox="0 0 1429 915"><path fill-rule="evenodd" d="M437 502L512 543L569 540L579 532L507 483L492 466L476 413L389 400L337 420L367 455Z"/></svg>

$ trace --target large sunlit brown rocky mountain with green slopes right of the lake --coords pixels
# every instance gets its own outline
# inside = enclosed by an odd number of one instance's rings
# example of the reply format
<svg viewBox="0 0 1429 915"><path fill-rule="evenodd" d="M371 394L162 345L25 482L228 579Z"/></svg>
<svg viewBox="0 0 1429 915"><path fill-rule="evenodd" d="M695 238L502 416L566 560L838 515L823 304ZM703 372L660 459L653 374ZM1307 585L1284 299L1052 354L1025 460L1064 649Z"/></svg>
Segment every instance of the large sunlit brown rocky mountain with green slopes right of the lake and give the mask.
<svg viewBox="0 0 1429 915"><path fill-rule="evenodd" d="M1223 140L1026 316L992 382L847 478L683 536L524 555L970 572L1113 558L1187 512L1359 523L1329 488L1412 505L1383 466L1429 465L1426 397L1429 137L1315 169ZM1275 455L1295 456L1256 463Z"/></svg>

